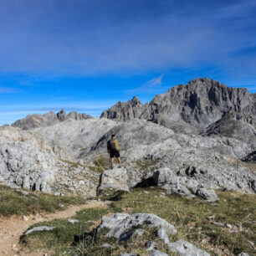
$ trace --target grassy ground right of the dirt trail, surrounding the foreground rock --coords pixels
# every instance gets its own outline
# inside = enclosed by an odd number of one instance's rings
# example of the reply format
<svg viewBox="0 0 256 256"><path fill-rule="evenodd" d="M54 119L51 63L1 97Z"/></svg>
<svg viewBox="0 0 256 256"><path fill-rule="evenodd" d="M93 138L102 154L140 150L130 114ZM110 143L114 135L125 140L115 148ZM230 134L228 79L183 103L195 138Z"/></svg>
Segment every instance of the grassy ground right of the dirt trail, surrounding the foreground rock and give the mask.
<svg viewBox="0 0 256 256"><path fill-rule="evenodd" d="M202 201L200 198L193 200L185 197L170 195L160 197L160 189L138 188L131 193L116 193L105 199L113 200L107 209L93 208L79 212L74 218L79 223L69 224L66 220L55 220L45 225L58 227L54 231L45 233L32 233L26 238L28 246L34 246L36 241L41 241L42 246L54 250L56 255L66 252L66 255L118 255L120 252L138 253L148 255L142 248L146 241L155 240L157 248L169 253L166 245L156 238L156 229L145 228L141 238L132 239L128 243L116 244L115 238L105 238L104 233L95 234L91 226L95 223L88 223L89 220L99 220L102 215L109 212L152 212L157 216L166 219L177 228L177 235L171 236L170 241L185 239L198 248L207 250L211 255L238 255L246 252L253 255L255 251L248 241L255 242L255 195L245 195L238 192L218 192L219 204L213 206ZM102 197L103 198L103 197ZM114 199L113 199L114 198ZM117 200L117 201L115 201ZM225 225L231 224L238 228L238 233L229 233L228 228L214 226L207 217L215 216L216 222ZM39 223L38 225L41 225ZM74 238L84 234L83 239L74 243ZM100 248L100 244L110 243L114 249Z"/></svg>

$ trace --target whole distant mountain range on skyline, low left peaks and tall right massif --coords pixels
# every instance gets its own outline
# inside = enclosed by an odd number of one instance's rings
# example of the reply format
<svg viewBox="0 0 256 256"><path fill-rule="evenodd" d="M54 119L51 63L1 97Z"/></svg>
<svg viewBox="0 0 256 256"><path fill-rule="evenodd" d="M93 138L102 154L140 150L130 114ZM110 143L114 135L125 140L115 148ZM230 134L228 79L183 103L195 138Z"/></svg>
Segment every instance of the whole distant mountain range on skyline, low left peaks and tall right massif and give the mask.
<svg viewBox="0 0 256 256"><path fill-rule="evenodd" d="M103 111L100 117L120 121L147 120L176 132L228 136L256 145L256 94L213 79L192 79L186 85L178 84L146 104L136 96L127 102L119 101ZM28 115L14 122L13 126L28 130L68 119L89 118L92 117L75 111L69 115L64 110L57 115L51 111L45 115Z"/></svg>

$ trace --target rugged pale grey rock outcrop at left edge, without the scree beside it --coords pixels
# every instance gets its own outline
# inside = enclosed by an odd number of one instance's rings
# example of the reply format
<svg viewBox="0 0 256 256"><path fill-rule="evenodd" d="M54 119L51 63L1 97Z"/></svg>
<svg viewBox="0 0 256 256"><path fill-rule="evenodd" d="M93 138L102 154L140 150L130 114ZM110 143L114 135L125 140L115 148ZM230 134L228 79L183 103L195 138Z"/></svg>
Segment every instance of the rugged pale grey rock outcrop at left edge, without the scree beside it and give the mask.
<svg viewBox="0 0 256 256"><path fill-rule="evenodd" d="M11 187L50 192L61 164L51 154L23 141L0 136L0 181Z"/></svg>

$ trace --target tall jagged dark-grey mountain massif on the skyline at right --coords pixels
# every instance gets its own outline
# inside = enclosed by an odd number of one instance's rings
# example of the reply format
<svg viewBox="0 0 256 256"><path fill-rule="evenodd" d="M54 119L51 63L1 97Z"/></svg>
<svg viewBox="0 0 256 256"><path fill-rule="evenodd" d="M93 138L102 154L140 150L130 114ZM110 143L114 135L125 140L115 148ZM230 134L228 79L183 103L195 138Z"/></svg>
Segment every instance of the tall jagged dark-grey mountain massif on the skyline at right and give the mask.
<svg viewBox="0 0 256 256"><path fill-rule="evenodd" d="M255 94L250 95L244 88L232 88L212 79L200 78L156 95L150 104L142 105L136 97L126 103L119 102L105 110L101 117L117 120L141 118L172 128L173 125L185 125L202 129L229 112L255 126Z"/></svg>

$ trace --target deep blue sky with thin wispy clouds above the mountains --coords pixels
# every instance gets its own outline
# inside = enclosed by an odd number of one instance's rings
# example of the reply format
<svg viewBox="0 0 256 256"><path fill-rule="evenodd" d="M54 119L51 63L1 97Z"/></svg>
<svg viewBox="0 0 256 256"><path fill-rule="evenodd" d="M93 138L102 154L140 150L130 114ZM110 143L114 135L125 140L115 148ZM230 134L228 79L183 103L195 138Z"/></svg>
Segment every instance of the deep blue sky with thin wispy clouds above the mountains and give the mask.
<svg viewBox="0 0 256 256"><path fill-rule="evenodd" d="M208 77L256 92L256 2L1 0L0 125L100 115Z"/></svg>

